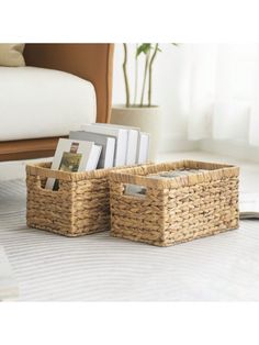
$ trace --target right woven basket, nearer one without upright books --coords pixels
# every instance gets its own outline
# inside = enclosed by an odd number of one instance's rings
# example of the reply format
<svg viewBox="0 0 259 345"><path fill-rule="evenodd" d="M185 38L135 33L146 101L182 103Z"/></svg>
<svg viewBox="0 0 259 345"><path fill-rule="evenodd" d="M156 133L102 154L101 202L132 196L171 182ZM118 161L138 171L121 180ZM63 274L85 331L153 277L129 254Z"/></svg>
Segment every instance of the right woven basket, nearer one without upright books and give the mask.
<svg viewBox="0 0 259 345"><path fill-rule="evenodd" d="M148 178L170 170L204 169L176 178ZM192 160L130 168L110 175L111 234L169 246L238 227L239 169ZM146 189L125 194L127 185Z"/></svg>

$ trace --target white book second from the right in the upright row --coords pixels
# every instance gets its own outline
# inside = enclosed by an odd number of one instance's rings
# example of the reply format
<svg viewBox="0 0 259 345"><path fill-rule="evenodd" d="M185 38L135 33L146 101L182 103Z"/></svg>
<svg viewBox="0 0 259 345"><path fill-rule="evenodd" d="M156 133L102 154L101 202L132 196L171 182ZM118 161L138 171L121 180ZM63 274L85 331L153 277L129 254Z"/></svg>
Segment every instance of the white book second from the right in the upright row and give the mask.
<svg viewBox="0 0 259 345"><path fill-rule="evenodd" d="M127 135L127 153L126 153L126 165L134 165L137 163L137 149L138 149L138 136L140 129L133 127L130 125L121 125L113 123L93 123L93 125L101 125L106 127L122 129L128 131Z"/></svg>

